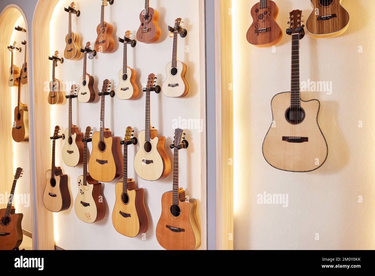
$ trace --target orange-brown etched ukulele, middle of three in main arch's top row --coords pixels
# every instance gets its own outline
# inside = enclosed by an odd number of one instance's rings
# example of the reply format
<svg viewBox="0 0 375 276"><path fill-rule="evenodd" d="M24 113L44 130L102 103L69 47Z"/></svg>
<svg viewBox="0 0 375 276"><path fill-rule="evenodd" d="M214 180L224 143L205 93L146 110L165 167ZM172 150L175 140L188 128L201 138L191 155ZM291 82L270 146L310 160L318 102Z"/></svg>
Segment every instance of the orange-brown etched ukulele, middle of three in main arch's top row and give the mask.
<svg viewBox="0 0 375 276"><path fill-rule="evenodd" d="M113 0L109 1L110 4L113 4ZM100 24L96 27L96 33L98 33L98 37L95 41L94 49L97 52L102 53L110 53L112 52L115 41L112 36L113 26L110 23L104 21L104 7L108 6L107 0L102 1L102 10L101 10L101 17L100 17Z"/></svg>

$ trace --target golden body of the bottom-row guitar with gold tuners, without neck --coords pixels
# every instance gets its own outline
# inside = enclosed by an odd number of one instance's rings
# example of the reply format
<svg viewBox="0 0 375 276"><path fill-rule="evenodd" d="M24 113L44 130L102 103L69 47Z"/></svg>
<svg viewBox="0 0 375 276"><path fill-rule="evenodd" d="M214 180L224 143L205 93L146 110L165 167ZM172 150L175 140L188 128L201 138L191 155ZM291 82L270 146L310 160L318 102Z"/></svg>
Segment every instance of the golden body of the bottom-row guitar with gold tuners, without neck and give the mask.
<svg viewBox="0 0 375 276"><path fill-rule="evenodd" d="M127 197L124 195L125 197L122 198L122 185L122 182L118 182L115 187L116 202L112 212L112 223L118 233L127 237L136 237L148 229L144 189L136 189L133 179L127 179Z"/></svg>

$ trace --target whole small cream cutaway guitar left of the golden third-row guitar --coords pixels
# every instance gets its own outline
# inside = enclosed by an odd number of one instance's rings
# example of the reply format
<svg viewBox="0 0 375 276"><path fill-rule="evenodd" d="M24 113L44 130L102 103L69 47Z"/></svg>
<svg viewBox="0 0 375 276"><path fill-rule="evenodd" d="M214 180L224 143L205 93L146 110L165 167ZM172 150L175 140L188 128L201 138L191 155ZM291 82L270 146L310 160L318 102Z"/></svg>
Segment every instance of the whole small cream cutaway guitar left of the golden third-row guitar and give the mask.
<svg viewBox="0 0 375 276"><path fill-rule="evenodd" d="M82 164L83 160L83 133L79 132L78 126L72 124L72 98L76 98L75 95L77 86L72 85L72 89L69 93L69 115L68 115L68 128L65 129L65 144L63 146L62 156L64 163L69 167L75 167Z"/></svg>

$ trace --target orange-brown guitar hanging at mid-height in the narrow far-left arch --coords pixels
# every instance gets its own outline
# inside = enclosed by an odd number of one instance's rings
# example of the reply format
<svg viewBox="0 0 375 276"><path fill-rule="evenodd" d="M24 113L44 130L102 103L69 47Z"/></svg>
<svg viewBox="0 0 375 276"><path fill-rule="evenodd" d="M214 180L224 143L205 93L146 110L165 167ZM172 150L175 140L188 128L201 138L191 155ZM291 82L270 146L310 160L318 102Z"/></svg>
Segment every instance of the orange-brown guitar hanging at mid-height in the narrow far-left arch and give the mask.
<svg viewBox="0 0 375 276"><path fill-rule="evenodd" d="M12 137L15 142L28 141L28 112L27 105L21 103L21 81L23 71L18 77L18 104L14 108Z"/></svg>

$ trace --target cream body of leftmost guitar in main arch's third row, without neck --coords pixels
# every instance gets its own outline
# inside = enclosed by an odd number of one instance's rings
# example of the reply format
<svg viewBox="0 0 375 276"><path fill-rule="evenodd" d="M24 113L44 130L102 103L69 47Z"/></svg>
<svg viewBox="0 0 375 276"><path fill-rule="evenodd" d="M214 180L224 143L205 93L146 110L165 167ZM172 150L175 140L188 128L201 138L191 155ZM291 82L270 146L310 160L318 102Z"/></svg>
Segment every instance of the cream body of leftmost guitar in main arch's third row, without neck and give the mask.
<svg viewBox="0 0 375 276"><path fill-rule="evenodd" d="M72 126L72 136L69 137L69 128L65 129L65 143L62 156L64 163L69 167L75 167L83 162L83 133L78 132L77 126Z"/></svg>

